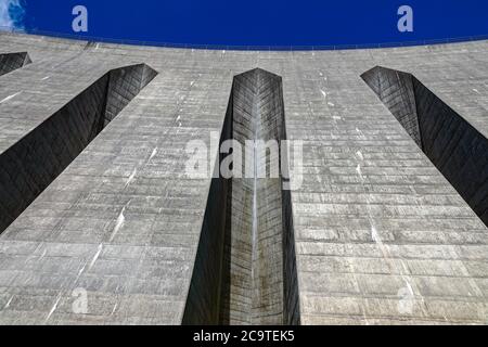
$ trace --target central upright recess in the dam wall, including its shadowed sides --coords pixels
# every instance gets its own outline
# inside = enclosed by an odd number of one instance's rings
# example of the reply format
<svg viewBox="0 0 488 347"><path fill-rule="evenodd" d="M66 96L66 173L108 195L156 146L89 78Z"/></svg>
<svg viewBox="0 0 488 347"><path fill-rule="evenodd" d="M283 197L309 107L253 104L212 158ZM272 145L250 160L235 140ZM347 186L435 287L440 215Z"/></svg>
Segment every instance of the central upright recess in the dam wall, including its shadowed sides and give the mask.
<svg viewBox="0 0 488 347"><path fill-rule="evenodd" d="M286 139L281 77L234 77L220 143L229 139L243 149L246 140ZM269 175L272 160L266 178L213 180L183 324L299 323L291 196L281 175ZM243 157L242 172L245 165Z"/></svg>

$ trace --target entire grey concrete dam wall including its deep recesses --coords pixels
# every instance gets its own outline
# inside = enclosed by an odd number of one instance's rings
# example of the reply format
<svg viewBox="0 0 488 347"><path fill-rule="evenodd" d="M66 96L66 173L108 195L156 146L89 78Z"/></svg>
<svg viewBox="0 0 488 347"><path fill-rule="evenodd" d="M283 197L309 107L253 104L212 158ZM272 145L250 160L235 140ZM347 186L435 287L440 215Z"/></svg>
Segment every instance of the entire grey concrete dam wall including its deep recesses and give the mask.
<svg viewBox="0 0 488 347"><path fill-rule="evenodd" d="M0 33L0 324L487 324L487 53Z"/></svg>

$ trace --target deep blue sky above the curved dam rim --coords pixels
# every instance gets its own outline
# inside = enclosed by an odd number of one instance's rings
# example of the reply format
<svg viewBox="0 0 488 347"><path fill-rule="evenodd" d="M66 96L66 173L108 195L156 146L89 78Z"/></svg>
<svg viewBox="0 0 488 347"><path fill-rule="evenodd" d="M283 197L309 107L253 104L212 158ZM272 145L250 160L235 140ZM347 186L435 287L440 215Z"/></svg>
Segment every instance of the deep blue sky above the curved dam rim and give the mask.
<svg viewBox="0 0 488 347"><path fill-rule="evenodd" d="M487 0L0 0L0 25L74 34L88 9L88 37L237 46L330 46L488 35ZM399 33L397 10L414 11ZM7 9L7 10L5 10Z"/></svg>

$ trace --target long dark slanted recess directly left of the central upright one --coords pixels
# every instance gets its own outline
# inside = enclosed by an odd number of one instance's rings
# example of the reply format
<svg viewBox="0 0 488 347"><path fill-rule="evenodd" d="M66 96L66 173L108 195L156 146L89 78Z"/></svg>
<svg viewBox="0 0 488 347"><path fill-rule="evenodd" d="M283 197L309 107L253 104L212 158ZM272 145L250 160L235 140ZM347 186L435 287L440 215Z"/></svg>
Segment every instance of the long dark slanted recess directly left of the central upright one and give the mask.
<svg viewBox="0 0 488 347"><path fill-rule="evenodd" d="M108 72L0 155L0 232L156 75L144 64Z"/></svg>

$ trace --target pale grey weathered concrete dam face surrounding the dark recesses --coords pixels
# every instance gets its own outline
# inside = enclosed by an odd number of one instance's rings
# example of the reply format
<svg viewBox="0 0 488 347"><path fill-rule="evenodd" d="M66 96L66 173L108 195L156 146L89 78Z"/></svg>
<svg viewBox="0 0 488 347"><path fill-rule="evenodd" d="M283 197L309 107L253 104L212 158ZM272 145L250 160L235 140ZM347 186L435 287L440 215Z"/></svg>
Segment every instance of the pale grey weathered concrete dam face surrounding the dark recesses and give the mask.
<svg viewBox="0 0 488 347"><path fill-rule="evenodd" d="M182 322L211 183L185 176L185 146L221 131L233 77L256 67L282 77L286 137L305 144L284 240L300 323L488 322L487 228L360 77L413 74L487 137L487 41L237 52L1 34L0 47L34 62L0 77L2 152L107 70L158 72L0 235L1 323Z"/></svg>

